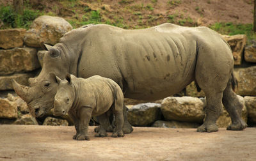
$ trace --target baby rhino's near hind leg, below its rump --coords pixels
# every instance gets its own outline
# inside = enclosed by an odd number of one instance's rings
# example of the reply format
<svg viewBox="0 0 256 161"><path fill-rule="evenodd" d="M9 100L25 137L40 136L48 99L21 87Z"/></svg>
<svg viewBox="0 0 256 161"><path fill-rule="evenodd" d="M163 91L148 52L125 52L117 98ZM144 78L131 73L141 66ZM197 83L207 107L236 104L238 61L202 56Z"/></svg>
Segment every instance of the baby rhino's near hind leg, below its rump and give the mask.
<svg viewBox="0 0 256 161"><path fill-rule="evenodd" d="M112 111L115 115L115 128L111 137L124 137L124 115L123 115L123 102L115 100L115 104L112 105Z"/></svg>

